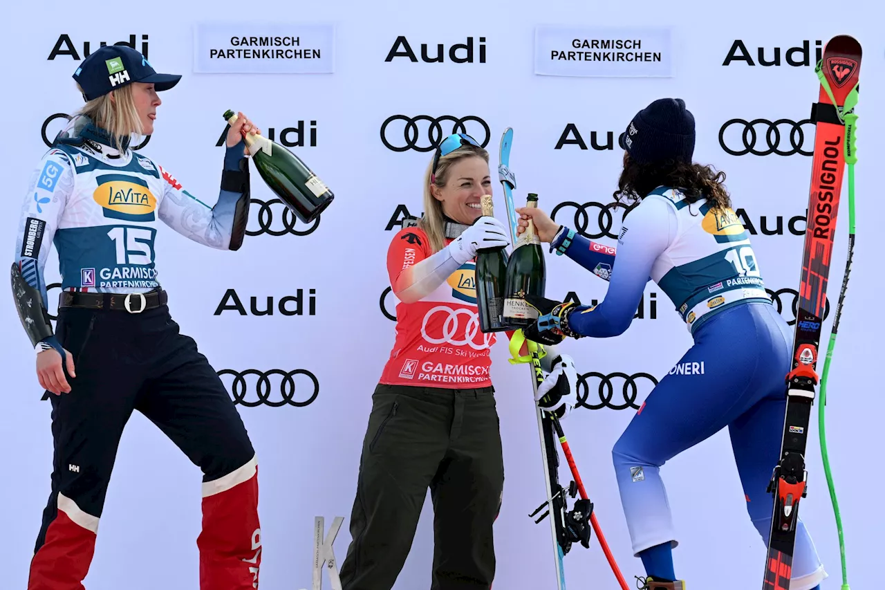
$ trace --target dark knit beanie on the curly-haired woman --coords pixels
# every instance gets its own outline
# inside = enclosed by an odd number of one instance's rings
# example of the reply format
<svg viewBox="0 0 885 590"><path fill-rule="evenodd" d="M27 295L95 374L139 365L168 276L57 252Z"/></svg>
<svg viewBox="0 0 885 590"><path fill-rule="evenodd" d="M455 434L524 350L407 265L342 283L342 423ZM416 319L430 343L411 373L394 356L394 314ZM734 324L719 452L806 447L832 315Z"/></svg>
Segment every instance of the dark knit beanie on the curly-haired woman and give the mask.
<svg viewBox="0 0 885 590"><path fill-rule="evenodd" d="M640 164L675 159L691 163L695 117L681 98L658 98L636 113L618 144Z"/></svg>

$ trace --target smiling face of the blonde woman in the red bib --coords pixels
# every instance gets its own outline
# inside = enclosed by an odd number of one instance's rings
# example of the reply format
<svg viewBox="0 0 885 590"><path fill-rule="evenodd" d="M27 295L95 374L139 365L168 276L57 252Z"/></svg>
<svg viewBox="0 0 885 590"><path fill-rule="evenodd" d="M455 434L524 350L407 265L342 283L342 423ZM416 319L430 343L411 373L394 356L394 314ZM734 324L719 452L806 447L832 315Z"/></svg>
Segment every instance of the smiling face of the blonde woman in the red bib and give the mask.
<svg viewBox="0 0 885 590"><path fill-rule="evenodd" d="M458 223L471 225L482 216L480 198L492 194L489 164L479 156L459 159L446 171L443 187L431 185L434 198L442 202L443 213Z"/></svg>

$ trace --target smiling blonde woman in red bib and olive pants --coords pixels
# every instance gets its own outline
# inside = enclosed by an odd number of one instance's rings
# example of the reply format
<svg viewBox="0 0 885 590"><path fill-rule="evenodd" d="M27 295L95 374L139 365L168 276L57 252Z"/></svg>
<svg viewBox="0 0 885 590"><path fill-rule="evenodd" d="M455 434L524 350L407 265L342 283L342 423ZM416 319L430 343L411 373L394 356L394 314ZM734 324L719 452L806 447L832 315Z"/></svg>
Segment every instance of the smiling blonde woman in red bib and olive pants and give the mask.
<svg viewBox="0 0 885 590"><path fill-rule="evenodd" d="M390 243L396 342L373 393L343 590L394 585L428 487L431 588L492 584L504 458L489 377L496 336L480 331L473 278L477 249L509 244L504 224L482 216L491 190L488 151L466 134L446 137L425 172L424 217ZM537 399L549 394L542 408L565 417L576 403L573 361L548 349L542 363L548 376Z"/></svg>

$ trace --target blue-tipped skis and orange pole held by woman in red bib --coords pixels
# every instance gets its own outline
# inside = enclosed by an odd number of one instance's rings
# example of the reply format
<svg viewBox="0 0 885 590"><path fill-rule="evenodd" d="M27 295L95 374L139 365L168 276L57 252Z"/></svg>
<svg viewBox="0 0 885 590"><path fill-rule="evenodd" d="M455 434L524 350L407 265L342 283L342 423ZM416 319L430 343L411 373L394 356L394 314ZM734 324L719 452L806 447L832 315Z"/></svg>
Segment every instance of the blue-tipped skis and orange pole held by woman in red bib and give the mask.
<svg viewBox="0 0 885 590"><path fill-rule="evenodd" d="M512 190L516 188L516 176L513 175L510 170L510 148L512 141L513 129L507 128L504 131L504 136L501 137L498 179L501 181L501 184L504 185L504 201L507 208L507 218L508 221L510 221L511 243L516 244L519 217L516 214L516 208L513 206ZM527 351L529 353L527 357L519 356L519 351L522 348L523 343L527 346ZM513 359L510 361L514 364L527 361L531 362L533 400L537 395L538 386L542 384L544 380L543 369L541 368L542 351L543 346L527 340L523 336L522 330L516 330L513 333L510 341L510 352ZM596 532L596 538L599 540L599 544L603 549L609 565L612 566L612 572L614 573L615 578L618 578L621 590L628 590L627 581L621 574L618 563L615 562L614 556L612 555L612 550L608 547L608 543L605 541L602 529L596 520L596 515L593 514L593 503L590 502L587 491L584 489L584 484L581 481L581 474L578 472L578 467L574 462L571 448L566 439L566 434L563 432L558 418L551 415L549 412L543 411L537 405L535 405L535 415L538 421L541 451L544 457L544 484L548 493L548 499L543 501L541 506L535 509L535 512L529 516L534 518L544 508L547 508L547 511L539 516L538 519L535 520L535 523L540 523L546 516L550 516L550 532L553 539L553 546L556 550L555 567L558 590L566 590L566 571L563 565L563 557L568 553L569 549L571 549L572 543L580 542L583 547L589 548L590 529L588 524L590 524L593 531ZM572 471L572 477L574 478L569 484L567 492L562 485L559 485L559 454L556 447L556 438L559 439L559 444L562 446L563 453L566 454L566 462L568 462L569 469ZM581 500L574 502L574 508L572 510L567 509L568 503L566 493L572 498L574 498L577 493L581 493Z"/></svg>

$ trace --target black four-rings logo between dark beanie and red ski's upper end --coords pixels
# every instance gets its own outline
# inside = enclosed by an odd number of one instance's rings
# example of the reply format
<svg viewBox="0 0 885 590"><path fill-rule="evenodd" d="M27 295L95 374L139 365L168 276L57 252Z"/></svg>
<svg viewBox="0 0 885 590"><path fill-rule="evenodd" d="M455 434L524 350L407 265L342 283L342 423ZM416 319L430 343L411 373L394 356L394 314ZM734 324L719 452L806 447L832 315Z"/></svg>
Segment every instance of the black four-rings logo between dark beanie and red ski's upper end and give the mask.
<svg viewBox="0 0 885 590"><path fill-rule="evenodd" d="M804 128L804 126L807 126ZM767 156L814 155L814 123L811 119L795 122L789 119L730 119L720 128L720 145L733 156L748 153ZM806 136L806 132L808 135ZM805 137L809 137L808 149ZM758 147L757 147L758 146Z"/></svg>

